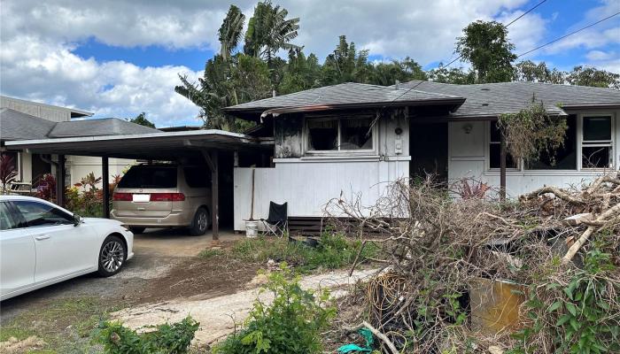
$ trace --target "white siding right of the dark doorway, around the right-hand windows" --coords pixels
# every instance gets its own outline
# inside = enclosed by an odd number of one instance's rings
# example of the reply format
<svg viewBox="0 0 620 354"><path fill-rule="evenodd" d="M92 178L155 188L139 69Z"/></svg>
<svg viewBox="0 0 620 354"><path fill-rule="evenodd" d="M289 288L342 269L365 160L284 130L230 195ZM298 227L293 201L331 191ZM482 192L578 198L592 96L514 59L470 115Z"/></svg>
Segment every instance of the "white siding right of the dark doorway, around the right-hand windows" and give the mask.
<svg viewBox="0 0 620 354"><path fill-rule="evenodd" d="M614 154L614 166L618 169L620 165L620 111L616 112L578 112L577 119L582 114L611 113L615 119L615 137L612 153ZM612 119L612 121L614 120ZM490 122L485 121L454 121L448 124L448 178L451 182L459 181L461 178L474 178L479 181L489 183L492 187L500 187L500 171L489 169L488 166L488 131ZM582 134L581 125L577 124L577 136ZM469 134L466 130L471 129ZM581 155L578 151L577 161ZM519 196L523 193L539 189L545 185L569 186L580 185L587 181L592 181L596 176L600 176L604 171L601 170L523 170L507 172L506 188L508 196Z"/></svg>

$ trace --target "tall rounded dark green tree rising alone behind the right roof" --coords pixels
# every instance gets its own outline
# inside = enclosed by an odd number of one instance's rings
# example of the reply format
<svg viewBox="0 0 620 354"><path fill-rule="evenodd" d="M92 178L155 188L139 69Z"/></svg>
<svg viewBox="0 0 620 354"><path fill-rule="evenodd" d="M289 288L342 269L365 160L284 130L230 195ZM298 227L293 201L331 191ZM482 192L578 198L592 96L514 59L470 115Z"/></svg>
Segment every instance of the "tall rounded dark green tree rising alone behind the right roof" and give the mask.
<svg viewBox="0 0 620 354"><path fill-rule="evenodd" d="M477 83L508 82L514 73L514 49L504 25L477 20L463 29L463 36L457 38L455 52L471 63L477 73Z"/></svg>

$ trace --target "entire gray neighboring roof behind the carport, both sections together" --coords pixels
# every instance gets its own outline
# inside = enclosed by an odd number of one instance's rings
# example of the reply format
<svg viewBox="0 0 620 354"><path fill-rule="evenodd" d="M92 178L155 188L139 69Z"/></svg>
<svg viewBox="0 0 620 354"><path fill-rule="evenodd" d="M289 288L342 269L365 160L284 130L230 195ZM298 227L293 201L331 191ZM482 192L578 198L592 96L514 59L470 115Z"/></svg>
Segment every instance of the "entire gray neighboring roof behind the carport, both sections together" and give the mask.
<svg viewBox="0 0 620 354"><path fill-rule="evenodd" d="M0 139L2 141L149 133L160 133L160 131L118 118L54 122L9 108L0 109Z"/></svg>

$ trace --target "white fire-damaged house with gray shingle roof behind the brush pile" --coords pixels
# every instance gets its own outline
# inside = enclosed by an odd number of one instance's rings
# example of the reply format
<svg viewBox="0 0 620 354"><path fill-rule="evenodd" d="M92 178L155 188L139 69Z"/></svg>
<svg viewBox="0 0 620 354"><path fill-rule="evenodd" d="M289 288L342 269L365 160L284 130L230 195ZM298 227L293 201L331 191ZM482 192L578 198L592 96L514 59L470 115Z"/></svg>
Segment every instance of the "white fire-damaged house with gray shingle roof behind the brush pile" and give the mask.
<svg viewBox="0 0 620 354"><path fill-rule="evenodd" d="M542 101L569 129L555 161L508 158L508 196L543 185L579 184L620 166L620 91L534 82L453 85L411 81L392 87L344 83L226 109L273 136L272 168L235 169L235 229L267 218L269 201L292 217L321 217L332 198L376 203L402 177L436 173L500 184L496 120ZM253 172L252 172L253 170ZM253 177L252 177L253 176ZM252 181L253 178L253 181ZM253 188L252 188L253 186Z"/></svg>

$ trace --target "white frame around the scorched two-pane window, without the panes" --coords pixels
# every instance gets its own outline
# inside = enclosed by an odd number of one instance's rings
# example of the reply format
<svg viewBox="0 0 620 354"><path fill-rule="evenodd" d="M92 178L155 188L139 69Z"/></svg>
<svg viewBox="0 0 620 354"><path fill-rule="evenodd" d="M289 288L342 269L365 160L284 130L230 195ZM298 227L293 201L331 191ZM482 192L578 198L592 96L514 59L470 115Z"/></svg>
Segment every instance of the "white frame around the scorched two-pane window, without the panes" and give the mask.
<svg viewBox="0 0 620 354"><path fill-rule="evenodd" d="M326 116L326 117L306 117L304 121L304 150L306 155L376 155L377 146L377 124L371 127L370 149L341 149L342 147L342 122L347 119L369 119L372 125L372 119L366 115L341 115L341 116ZM312 121L329 121L335 120L337 122L337 149L336 150L314 150L311 146L310 127L309 124Z"/></svg>

